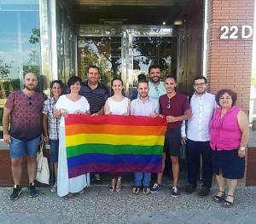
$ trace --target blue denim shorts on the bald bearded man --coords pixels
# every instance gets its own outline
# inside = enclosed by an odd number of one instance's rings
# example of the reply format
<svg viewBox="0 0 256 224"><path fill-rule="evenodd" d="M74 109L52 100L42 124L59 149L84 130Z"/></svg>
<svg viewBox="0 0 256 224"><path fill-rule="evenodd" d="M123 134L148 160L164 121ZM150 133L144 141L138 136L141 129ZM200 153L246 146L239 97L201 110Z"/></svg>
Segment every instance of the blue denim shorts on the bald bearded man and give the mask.
<svg viewBox="0 0 256 224"><path fill-rule="evenodd" d="M41 135L32 140L19 140L11 137L9 144L10 158L22 158L23 156L37 157Z"/></svg>

